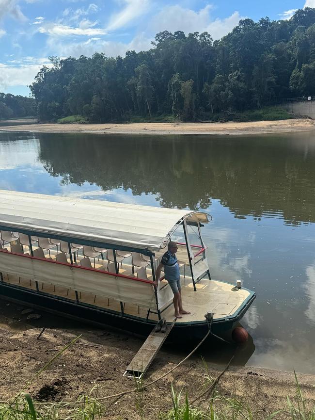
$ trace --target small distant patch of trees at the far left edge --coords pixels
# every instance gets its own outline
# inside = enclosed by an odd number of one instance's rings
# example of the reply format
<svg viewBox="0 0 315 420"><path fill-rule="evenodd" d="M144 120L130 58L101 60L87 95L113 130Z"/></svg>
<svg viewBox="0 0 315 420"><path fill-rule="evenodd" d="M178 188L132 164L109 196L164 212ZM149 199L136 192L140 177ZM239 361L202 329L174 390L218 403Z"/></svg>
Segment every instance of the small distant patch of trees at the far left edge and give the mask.
<svg viewBox="0 0 315 420"><path fill-rule="evenodd" d="M36 115L35 99L0 92L0 118L19 118Z"/></svg>

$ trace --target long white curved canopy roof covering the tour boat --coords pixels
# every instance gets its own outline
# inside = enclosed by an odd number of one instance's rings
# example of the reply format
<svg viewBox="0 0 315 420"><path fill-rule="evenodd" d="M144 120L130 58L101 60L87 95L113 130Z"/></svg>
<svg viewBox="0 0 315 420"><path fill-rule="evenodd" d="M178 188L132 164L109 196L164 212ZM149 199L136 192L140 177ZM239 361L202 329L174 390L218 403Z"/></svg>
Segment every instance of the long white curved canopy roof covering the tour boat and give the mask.
<svg viewBox="0 0 315 420"><path fill-rule="evenodd" d="M157 250L183 218L205 213L0 190L0 225L60 237Z"/></svg>

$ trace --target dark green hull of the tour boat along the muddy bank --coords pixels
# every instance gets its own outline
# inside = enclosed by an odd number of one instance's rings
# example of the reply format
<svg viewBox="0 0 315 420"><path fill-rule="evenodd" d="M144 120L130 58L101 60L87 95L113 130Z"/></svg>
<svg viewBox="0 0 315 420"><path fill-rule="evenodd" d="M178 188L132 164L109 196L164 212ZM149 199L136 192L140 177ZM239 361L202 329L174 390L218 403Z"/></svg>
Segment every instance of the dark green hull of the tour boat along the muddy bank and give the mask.
<svg viewBox="0 0 315 420"><path fill-rule="evenodd" d="M229 330L232 330L234 325L240 321L247 309L251 306L255 296L255 293L252 293L244 306L232 317L214 320L211 326L213 334L221 336L225 335ZM0 297L17 301L20 304L31 305L47 312L63 315L67 318L79 320L80 322L93 323L99 327L110 326L139 336L148 336L156 324L152 320L146 321L131 315L122 315L119 312L88 304L76 303L59 296L6 283L0 283ZM176 343L198 341L205 337L207 331L208 323L206 320L202 322L175 323L167 341Z"/></svg>

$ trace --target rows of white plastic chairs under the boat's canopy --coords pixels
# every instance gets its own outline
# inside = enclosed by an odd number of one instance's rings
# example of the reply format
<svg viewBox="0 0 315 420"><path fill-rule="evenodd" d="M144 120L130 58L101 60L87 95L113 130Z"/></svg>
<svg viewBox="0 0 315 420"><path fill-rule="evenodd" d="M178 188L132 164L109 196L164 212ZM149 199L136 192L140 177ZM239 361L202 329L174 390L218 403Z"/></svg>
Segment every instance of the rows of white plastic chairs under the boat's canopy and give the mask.
<svg viewBox="0 0 315 420"><path fill-rule="evenodd" d="M14 241L19 242L19 244L17 244L16 247L15 245L12 245L11 247L12 252L19 252L20 249L23 252L23 248L21 245L28 246L28 247L30 245L28 235L25 235L23 233L8 232L8 231L1 230L0 235L1 235L1 240L3 242L9 242L9 243L14 242ZM48 251L49 258L51 258L50 250L52 248L57 247L57 255L56 255L57 261L68 262L66 258L66 254L70 254L71 252L72 254L77 253L78 255L79 250L82 250L82 254L85 257L83 258L83 260L85 260L85 262L83 261L83 264L86 264L84 266L92 267L91 261L89 258L93 258L94 268L95 268L95 258L98 257L99 259L100 256L102 257L103 260L104 259L107 260L107 269L109 268L110 263L113 263L113 266L114 266L115 258L114 258L114 251L112 249L103 249L103 248L97 248L97 247L92 247L92 246L87 246L87 245L80 245L76 243L70 243L70 247L69 247L68 242L31 236L31 244L33 245L35 243L38 246L38 248L33 249L33 255L38 258L45 258L43 249ZM20 248L18 247L18 245ZM15 251L13 250L13 248L15 249ZM59 254L58 254L58 248L61 251ZM150 257L147 257L137 252L128 253L126 251L115 251L115 254L116 254L115 255L116 261L118 264L122 263L125 258L131 257L132 273L138 272L139 269L144 269L144 271L141 270L143 274L143 277L141 278L147 278L145 269L147 266L151 264ZM28 255L30 254L28 253ZM156 264L159 263L158 258L155 259L155 263ZM113 270L113 272L115 272L115 270Z"/></svg>

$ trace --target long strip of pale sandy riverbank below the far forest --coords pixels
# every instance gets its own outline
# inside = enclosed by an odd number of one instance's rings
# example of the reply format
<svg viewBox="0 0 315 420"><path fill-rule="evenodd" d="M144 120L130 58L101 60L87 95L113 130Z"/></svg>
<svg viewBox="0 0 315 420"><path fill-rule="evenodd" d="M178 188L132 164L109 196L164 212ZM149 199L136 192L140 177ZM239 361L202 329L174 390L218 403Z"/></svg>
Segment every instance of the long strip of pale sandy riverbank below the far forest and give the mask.
<svg viewBox="0 0 315 420"><path fill-rule="evenodd" d="M5 126L2 130L41 133L95 134L267 134L315 129L310 119L228 123L135 123L135 124L27 124Z"/></svg>

